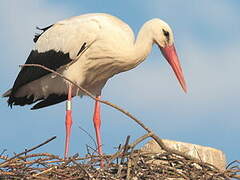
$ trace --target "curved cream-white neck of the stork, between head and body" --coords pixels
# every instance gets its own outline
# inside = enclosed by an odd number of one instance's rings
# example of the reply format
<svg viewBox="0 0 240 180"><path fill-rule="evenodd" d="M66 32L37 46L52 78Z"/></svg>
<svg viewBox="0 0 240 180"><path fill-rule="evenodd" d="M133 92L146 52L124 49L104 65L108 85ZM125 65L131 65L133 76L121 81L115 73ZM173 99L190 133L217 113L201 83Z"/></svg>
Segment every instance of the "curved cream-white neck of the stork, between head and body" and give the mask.
<svg viewBox="0 0 240 180"><path fill-rule="evenodd" d="M137 66L143 62L152 50L153 34L150 29L150 21L146 22L140 29L134 44L134 60L132 63Z"/></svg>

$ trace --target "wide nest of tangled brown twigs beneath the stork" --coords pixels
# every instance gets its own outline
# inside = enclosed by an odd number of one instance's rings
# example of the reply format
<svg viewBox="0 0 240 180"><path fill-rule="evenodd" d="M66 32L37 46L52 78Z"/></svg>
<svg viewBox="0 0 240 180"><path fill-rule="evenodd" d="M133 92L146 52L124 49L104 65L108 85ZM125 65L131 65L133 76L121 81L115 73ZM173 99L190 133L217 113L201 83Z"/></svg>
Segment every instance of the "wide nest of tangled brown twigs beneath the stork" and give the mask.
<svg viewBox="0 0 240 180"><path fill-rule="evenodd" d="M4 152L0 155L0 179L240 179L239 161L221 171L213 165L167 151L136 150L128 140L116 153L104 156L88 153L85 157L75 154L63 159L49 153L29 152L50 140L11 158Z"/></svg>

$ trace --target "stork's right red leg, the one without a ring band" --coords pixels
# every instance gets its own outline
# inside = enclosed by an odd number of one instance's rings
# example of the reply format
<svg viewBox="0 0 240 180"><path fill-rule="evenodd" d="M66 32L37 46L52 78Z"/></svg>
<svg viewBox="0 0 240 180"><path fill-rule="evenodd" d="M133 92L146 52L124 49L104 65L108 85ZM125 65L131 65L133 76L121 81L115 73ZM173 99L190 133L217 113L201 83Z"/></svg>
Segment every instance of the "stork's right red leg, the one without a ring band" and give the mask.
<svg viewBox="0 0 240 180"><path fill-rule="evenodd" d="M97 96L97 99L100 99L101 96ZM101 139L101 118L100 118L100 102L95 102L95 108L94 108L94 115L93 115L93 123L95 127L96 132L96 138L97 138L97 148L98 148L98 154L102 155L102 139ZM101 167L103 167L103 161L101 161Z"/></svg>

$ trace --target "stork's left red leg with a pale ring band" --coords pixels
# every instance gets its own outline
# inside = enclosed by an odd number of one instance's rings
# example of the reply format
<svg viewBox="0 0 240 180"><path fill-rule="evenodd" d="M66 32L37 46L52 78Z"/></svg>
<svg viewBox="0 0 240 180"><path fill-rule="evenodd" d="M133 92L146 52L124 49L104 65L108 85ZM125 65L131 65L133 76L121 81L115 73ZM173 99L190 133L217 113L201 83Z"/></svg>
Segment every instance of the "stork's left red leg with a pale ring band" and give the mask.
<svg viewBox="0 0 240 180"><path fill-rule="evenodd" d="M66 140L65 140L65 152L64 157L68 157L69 142L72 128L72 85L69 84L68 87L68 99L66 101Z"/></svg>

